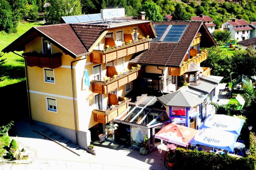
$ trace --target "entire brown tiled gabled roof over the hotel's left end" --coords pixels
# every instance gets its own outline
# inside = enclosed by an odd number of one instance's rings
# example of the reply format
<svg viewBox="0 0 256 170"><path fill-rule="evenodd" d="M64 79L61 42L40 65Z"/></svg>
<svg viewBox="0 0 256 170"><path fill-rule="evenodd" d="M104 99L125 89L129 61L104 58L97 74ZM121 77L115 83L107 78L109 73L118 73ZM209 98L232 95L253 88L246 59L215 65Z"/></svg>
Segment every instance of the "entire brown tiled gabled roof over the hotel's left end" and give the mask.
<svg viewBox="0 0 256 170"><path fill-rule="evenodd" d="M83 26L57 24L32 27L2 51L22 51L25 50L25 45L36 37L44 37L73 58L76 58L89 54L88 49L92 45L92 41L96 40L104 30L106 30L106 26L85 24ZM85 42L85 39L89 41Z"/></svg>

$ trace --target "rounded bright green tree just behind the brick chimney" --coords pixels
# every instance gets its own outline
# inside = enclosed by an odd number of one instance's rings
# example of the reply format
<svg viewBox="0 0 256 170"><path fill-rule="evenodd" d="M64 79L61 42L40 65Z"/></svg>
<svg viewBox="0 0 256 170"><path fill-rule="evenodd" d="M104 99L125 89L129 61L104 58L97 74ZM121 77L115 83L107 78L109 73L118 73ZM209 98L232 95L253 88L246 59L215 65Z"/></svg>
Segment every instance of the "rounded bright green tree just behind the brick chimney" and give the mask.
<svg viewBox="0 0 256 170"><path fill-rule="evenodd" d="M146 12L146 19L150 19L152 21L162 21L163 16L159 11L159 7L154 2L146 1L142 6L142 10Z"/></svg>

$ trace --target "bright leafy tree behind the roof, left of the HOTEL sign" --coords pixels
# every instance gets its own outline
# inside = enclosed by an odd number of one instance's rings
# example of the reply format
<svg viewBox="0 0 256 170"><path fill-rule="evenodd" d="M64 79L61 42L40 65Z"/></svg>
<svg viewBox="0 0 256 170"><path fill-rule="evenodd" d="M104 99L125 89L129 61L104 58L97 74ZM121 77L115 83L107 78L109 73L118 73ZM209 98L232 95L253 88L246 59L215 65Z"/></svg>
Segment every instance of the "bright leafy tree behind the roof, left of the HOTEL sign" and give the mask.
<svg viewBox="0 0 256 170"><path fill-rule="evenodd" d="M46 24L59 24L62 16L81 15L80 0L49 0L49 3L45 8Z"/></svg>

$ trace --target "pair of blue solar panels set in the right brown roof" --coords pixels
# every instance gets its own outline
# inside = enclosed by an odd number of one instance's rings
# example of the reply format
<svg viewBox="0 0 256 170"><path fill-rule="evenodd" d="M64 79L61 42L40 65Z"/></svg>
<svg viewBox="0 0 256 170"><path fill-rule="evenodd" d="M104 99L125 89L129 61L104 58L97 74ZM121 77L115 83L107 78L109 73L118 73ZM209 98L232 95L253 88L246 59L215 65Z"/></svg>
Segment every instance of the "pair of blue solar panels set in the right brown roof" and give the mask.
<svg viewBox="0 0 256 170"><path fill-rule="evenodd" d="M178 42L187 25L155 25L156 38L152 41Z"/></svg>

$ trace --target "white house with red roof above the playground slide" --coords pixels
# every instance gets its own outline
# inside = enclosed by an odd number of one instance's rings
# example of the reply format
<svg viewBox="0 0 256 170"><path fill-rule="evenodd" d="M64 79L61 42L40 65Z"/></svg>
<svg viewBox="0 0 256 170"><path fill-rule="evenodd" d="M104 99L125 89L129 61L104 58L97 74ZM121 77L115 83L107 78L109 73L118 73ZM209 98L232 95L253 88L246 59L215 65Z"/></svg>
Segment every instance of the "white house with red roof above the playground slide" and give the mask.
<svg viewBox="0 0 256 170"><path fill-rule="evenodd" d="M231 38L242 41L251 38L251 31L253 29L245 20L233 18L221 24L219 30L228 30L231 32Z"/></svg>

